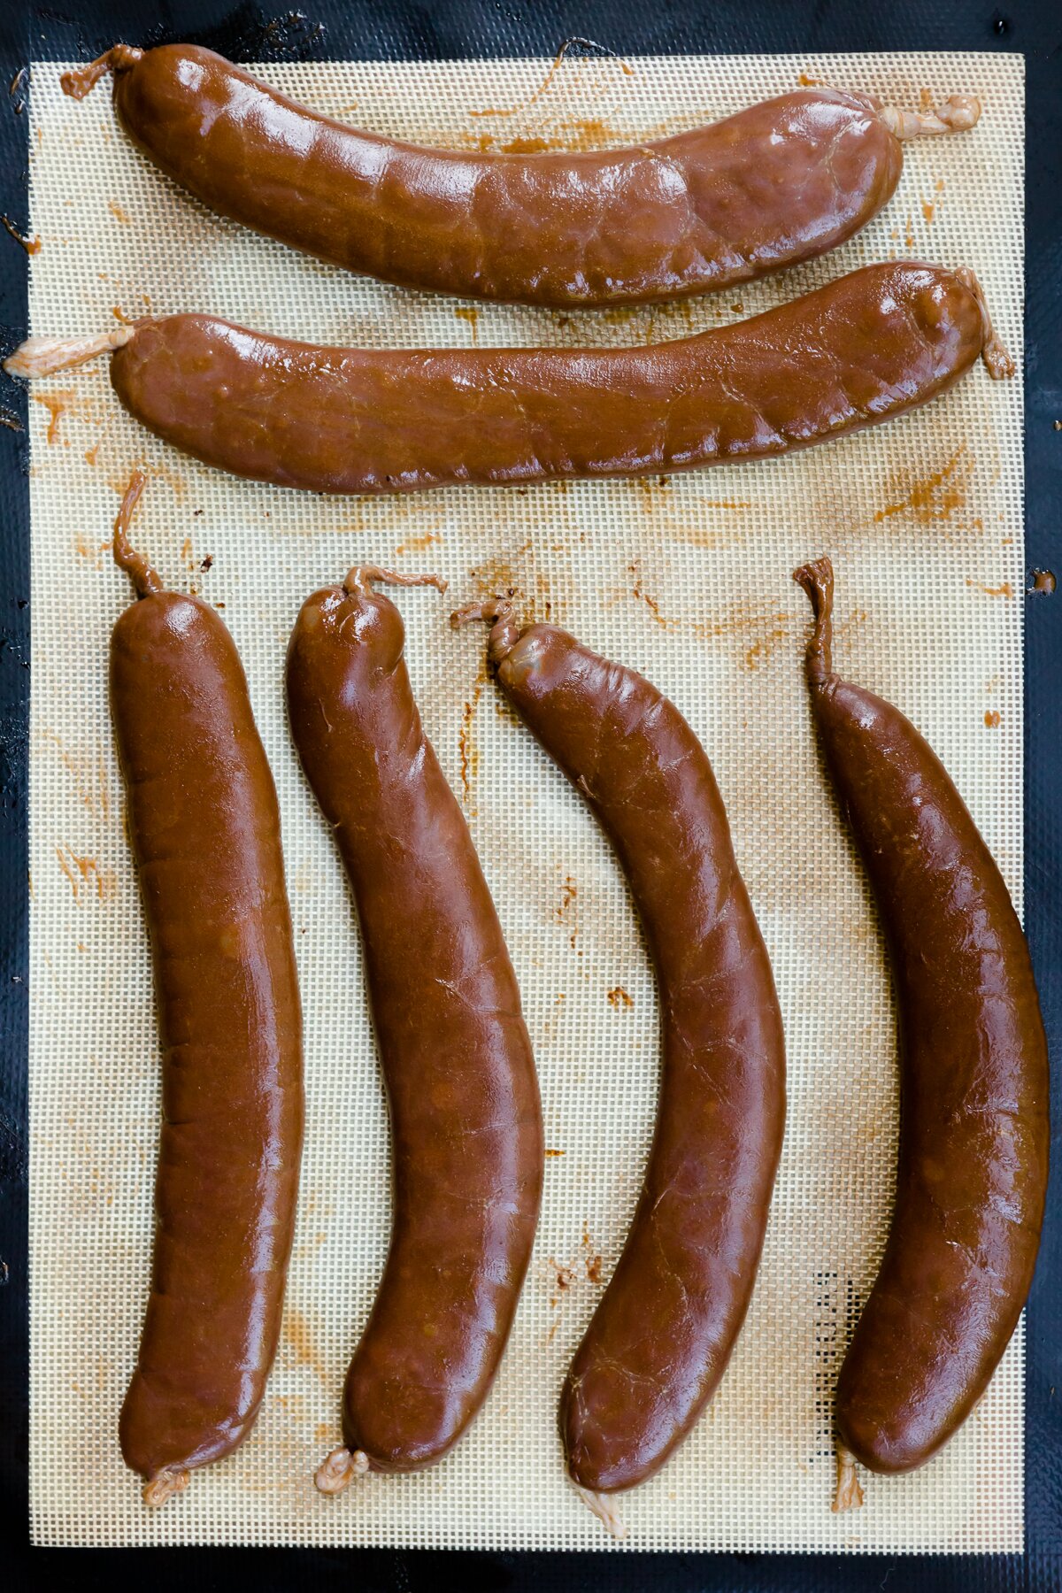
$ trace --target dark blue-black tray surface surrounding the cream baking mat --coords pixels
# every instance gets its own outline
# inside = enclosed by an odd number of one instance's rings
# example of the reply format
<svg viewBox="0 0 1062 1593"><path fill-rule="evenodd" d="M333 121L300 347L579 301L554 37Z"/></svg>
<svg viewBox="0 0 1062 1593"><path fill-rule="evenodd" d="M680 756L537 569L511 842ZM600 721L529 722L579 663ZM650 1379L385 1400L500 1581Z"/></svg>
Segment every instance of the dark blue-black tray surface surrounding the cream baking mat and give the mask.
<svg viewBox="0 0 1062 1593"><path fill-rule="evenodd" d="M25 115L6 83L32 57L91 59L116 40L191 38L236 61L552 56L583 35L624 54L810 49L1022 51L1027 108L1025 468L1029 566L1062 575L1062 3L1019 0L322 0L307 14L225 0L0 0L0 210L25 221ZM0 352L25 335L25 256L0 234ZM25 417L0 378L0 406ZM94 529L94 535L99 527ZM62 602L64 570L54 597ZM1062 1588L1062 1198L1052 1180L1029 1301L1027 1552L986 1558L831 1555L560 1555L398 1550L33 1550L27 1544L27 847L29 495L25 435L0 429L0 1575L10 1587L76 1580L110 1588L303 1588L353 1582L376 1593L551 1588L726 1593L799 1588L908 1593ZM1062 773L1062 591L1025 602L1027 927L1052 1056L1062 1039L1057 817ZM76 1023L76 1013L70 1013ZM1059 1091L1056 1086L1056 1102ZM1057 1155L1059 1109L1054 1144ZM94 1279L70 1278L70 1289ZM1056 1397L1056 1388L1059 1397ZM764 1510L771 1501L764 1501Z"/></svg>

